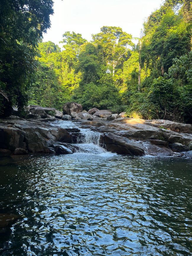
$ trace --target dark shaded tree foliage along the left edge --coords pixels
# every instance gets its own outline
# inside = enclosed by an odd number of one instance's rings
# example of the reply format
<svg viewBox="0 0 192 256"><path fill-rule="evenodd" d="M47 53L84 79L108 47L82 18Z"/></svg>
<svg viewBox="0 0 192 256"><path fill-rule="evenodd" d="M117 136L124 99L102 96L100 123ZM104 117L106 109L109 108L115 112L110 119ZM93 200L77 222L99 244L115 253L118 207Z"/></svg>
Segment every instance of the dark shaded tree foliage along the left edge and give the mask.
<svg viewBox="0 0 192 256"><path fill-rule="evenodd" d="M50 27L52 0L1 0L0 2L0 112L27 103L27 89L36 68L36 46ZM6 97L4 97L6 95Z"/></svg>

